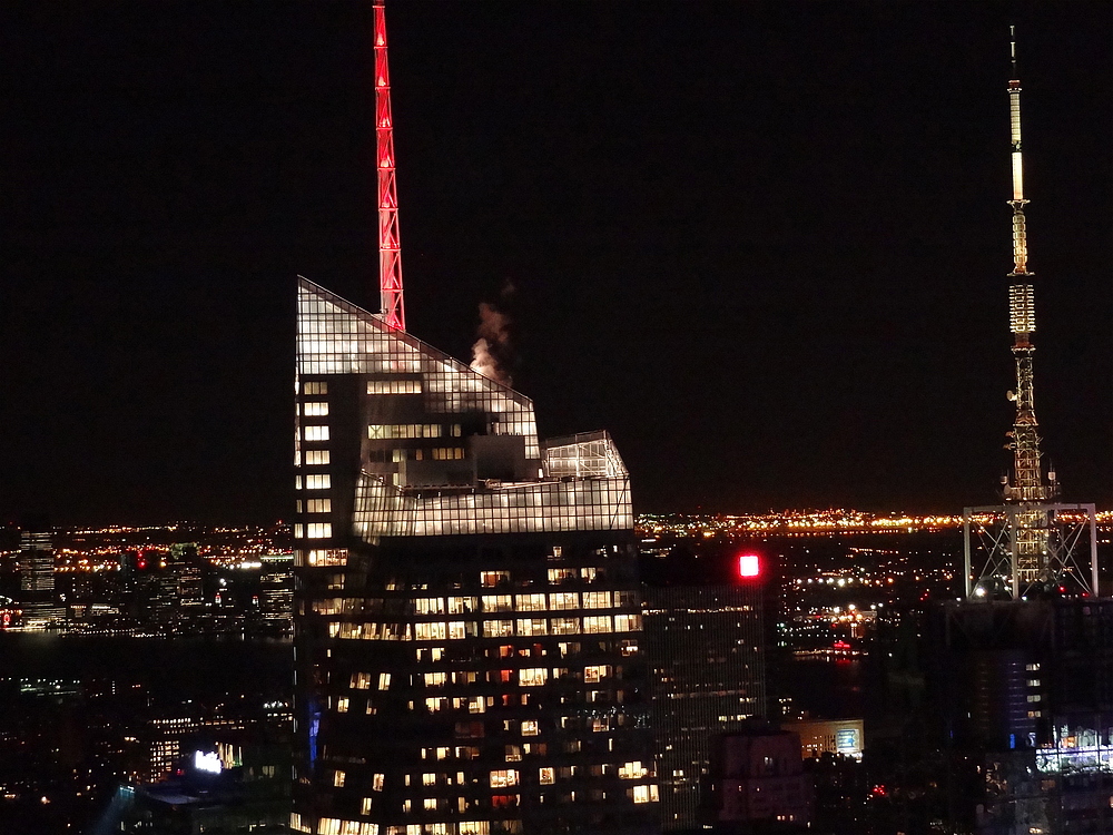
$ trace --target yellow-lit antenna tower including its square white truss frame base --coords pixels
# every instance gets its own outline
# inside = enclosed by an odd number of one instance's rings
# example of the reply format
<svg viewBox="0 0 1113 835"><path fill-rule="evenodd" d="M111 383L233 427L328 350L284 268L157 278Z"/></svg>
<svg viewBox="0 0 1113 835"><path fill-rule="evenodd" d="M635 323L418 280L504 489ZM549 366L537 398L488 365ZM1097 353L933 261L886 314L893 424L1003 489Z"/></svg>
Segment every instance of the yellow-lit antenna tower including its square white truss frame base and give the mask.
<svg viewBox="0 0 1113 835"><path fill-rule="evenodd" d="M1057 501L1060 484L1052 468L1043 471L1036 421L1032 336L1036 330L1035 275L1028 271L1021 149L1021 82L1015 31L1009 27L1012 76L1008 115L1012 143L1013 272L1008 274L1008 324L1013 334L1016 403L1006 449L1012 472L1002 478L1004 504L963 511L966 596L971 599L1023 599L1038 595L1096 595L1097 540L1093 504ZM1086 536L1089 534L1089 536ZM979 563L979 564L978 564Z"/></svg>

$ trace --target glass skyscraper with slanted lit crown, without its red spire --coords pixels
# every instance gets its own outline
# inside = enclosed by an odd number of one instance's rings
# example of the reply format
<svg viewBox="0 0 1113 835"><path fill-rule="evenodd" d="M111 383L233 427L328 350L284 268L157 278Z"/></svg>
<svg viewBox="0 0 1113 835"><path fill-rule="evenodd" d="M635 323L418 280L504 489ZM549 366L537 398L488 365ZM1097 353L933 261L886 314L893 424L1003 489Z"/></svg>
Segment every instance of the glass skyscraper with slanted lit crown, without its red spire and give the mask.
<svg viewBox="0 0 1113 835"><path fill-rule="evenodd" d="M292 828L657 828L630 479L529 399L298 292Z"/></svg>

